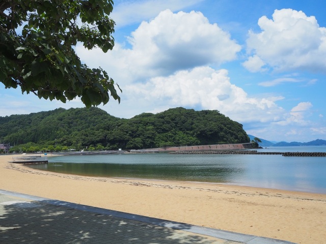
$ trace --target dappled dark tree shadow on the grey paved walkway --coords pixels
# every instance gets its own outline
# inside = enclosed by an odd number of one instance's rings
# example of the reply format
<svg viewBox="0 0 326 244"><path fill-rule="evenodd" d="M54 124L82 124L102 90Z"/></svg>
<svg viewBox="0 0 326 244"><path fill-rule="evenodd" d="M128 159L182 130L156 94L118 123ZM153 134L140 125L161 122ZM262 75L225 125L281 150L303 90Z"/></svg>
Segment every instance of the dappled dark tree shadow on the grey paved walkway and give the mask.
<svg viewBox="0 0 326 244"><path fill-rule="evenodd" d="M189 225L190 226L190 225ZM186 225L182 226L183 229ZM205 236L49 204L0 205L0 243L213 243ZM216 241L214 242L216 243ZM225 242L221 242L225 243Z"/></svg>

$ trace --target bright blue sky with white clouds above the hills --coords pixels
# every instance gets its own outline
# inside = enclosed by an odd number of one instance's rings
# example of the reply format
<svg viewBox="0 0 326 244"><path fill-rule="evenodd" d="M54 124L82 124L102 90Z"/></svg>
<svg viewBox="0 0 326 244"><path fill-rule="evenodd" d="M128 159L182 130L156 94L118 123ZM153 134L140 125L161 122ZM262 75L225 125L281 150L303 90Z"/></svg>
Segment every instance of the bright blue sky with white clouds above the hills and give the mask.
<svg viewBox="0 0 326 244"><path fill-rule="evenodd" d="M113 51L76 46L123 90L99 108L130 118L185 107L211 109L272 141L326 139L323 1L115 1ZM59 107L0 84L0 116Z"/></svg>

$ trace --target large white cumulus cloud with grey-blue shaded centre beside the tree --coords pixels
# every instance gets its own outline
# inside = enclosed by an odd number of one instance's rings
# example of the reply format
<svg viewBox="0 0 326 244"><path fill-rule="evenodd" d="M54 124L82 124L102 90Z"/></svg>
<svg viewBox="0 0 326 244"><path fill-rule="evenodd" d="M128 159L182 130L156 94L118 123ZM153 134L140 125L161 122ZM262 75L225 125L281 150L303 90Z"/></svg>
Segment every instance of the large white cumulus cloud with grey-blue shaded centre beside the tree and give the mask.
<svg viewBox="0 0 326 244"><path fill-rule="evenodd" d="M131 48L116 44L113 51L76 51L84 62L93 60L116 80L144 80L170 75L178 70L208 64L219 65L236 58L241 47L217 24L209 23L200 12L162 11L149 22L142 22L129 37Z"/></svg>

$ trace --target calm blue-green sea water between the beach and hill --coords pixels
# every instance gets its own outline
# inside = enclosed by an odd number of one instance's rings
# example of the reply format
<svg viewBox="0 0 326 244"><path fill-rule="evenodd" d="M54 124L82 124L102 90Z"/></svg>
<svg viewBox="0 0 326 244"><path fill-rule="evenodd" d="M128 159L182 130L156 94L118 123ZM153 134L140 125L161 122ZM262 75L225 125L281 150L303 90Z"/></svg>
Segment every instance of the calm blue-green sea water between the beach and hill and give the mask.
<svg viewBox="0 0 326 244"><path fill-rule="evenodd" d="M269 147L260 151L326 152L326 146ZM31 167L87 176L216 182L326 194L326 157L130 154L48 160L47 165Z"/></svg>

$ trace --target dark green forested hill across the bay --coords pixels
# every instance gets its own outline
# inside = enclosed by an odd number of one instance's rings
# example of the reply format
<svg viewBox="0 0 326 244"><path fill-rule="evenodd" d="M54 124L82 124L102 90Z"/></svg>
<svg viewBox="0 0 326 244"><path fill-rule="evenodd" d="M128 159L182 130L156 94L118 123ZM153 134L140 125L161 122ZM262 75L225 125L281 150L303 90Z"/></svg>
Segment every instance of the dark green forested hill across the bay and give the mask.
<svg viewBox="0 0 326 244"><path fill-rule="evenodd" d="M117 118L96 108L59 108L0 117L1 143L18 147L139 149L250 142L242 125L216 110L173 108ZM20 149L21 150L21 149Z"/></svg>

